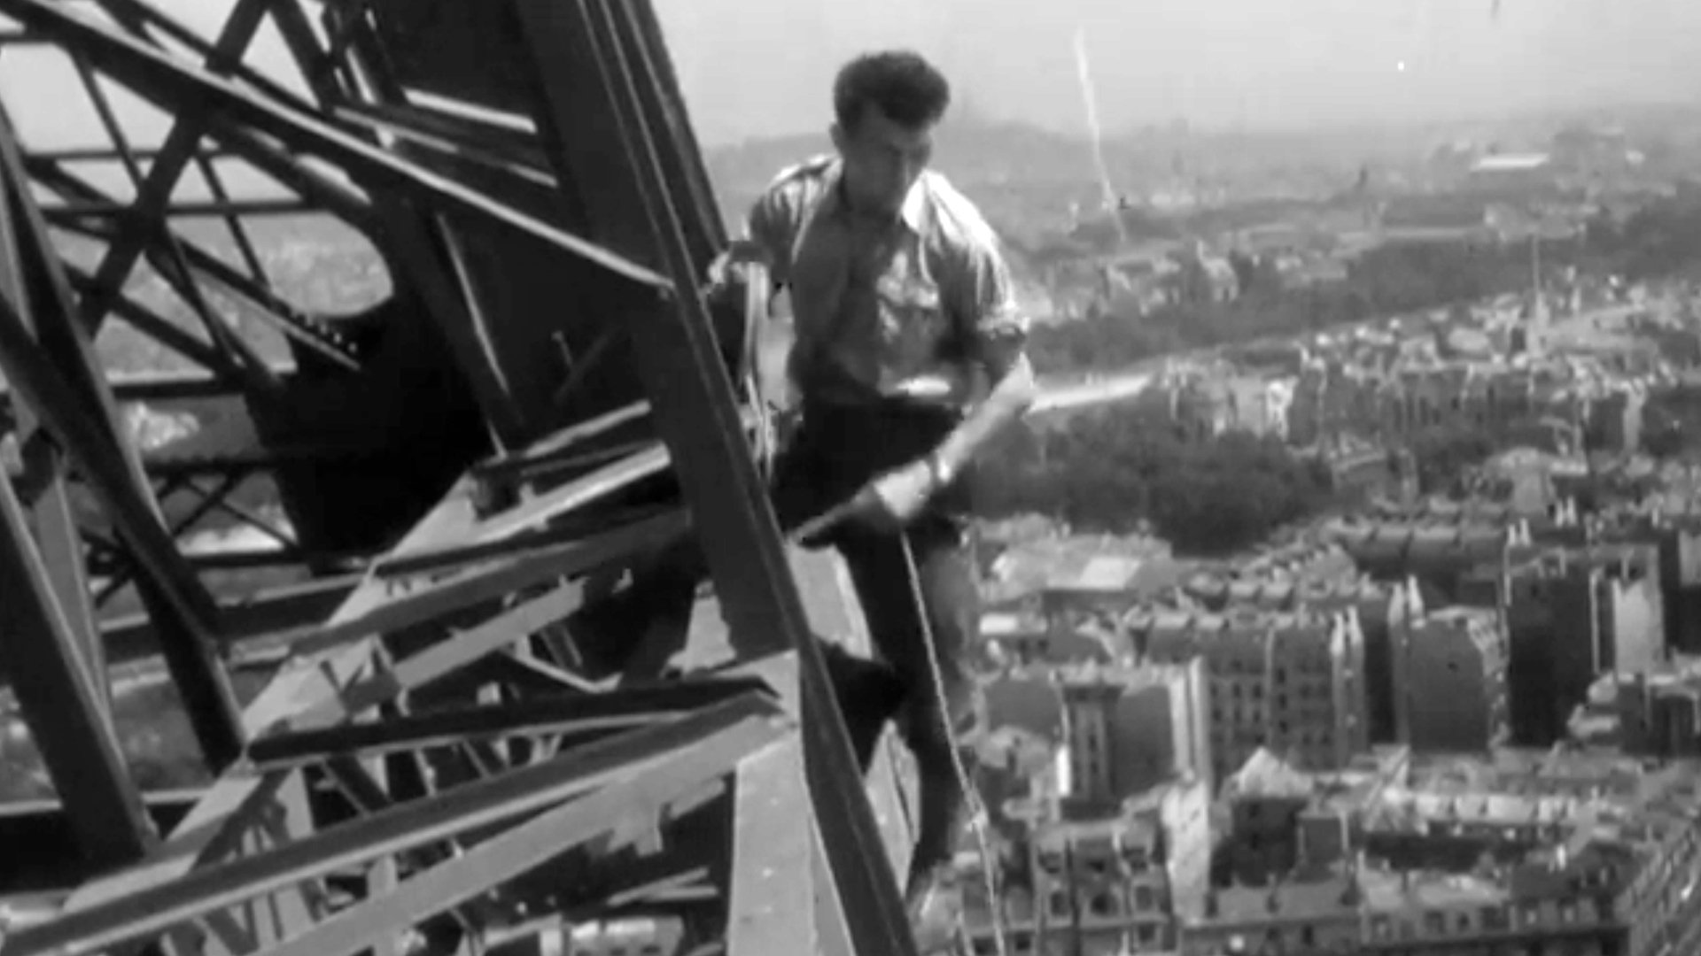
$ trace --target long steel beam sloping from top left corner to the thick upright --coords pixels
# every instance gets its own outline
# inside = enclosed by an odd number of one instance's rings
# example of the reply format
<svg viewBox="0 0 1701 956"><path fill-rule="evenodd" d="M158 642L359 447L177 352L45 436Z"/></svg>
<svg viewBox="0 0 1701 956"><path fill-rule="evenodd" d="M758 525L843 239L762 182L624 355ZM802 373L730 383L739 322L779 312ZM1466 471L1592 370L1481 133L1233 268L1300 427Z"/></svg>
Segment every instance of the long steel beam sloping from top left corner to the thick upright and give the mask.
<svg viewBox="0 0 1701 956"><path fill-rule="evenodd" d="M259 0L255 0L259 2ZM393 189L447 211L502 223L522 235L592 262L607 272L638 286L670 291L672 281L629 257L585 242L558 230L536 216L495 202L476 191L466 189L447 177L422 170L415 163L350 136L328 122L291 112L270 104L223 77L177 61L104 24L90 20L54 0L5 0L0 12L20 20L32 31L71 44L88 61L129 87L136 95L160 109L177 112L182 104L194 102L201 109L223 116L236 124L252 126L269 136L289 143L293 150L320 156L342 167L357 180L373 187Z"/></svg>

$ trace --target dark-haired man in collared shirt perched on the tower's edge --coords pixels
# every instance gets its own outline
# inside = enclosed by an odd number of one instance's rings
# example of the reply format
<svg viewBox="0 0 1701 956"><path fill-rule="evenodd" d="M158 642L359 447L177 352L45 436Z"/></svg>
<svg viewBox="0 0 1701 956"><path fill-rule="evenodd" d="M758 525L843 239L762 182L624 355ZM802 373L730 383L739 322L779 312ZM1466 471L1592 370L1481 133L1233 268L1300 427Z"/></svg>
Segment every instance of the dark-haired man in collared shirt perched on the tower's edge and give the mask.
<svg viewBox="0 0 1701 956"><path fill-rule="evenodd" d="M922 777L905 900L929 932L947 919L932 902L963 818L953 747L973 720L964 653L980 628L961 476L1034 398L1027 322L998 240L927 168L949 100L946 78L913 53L844 66L837 156L781 174L716 267L760 262L789 294L786 374L801 422L776 464L781 524L862 505L823 538L844 555L902 694L896 716ZM866 765L891 708L878 692L845 696Z"/></svg>

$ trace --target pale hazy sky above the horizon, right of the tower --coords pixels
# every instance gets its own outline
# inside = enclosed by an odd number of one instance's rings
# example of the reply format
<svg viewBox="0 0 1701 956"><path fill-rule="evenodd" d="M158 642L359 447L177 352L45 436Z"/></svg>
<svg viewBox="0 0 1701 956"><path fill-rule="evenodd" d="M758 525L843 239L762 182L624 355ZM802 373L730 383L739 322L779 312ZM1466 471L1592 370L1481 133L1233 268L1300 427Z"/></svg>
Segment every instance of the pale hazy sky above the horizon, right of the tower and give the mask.
<svg viewBox="0 0 1701 956"><path fill-rule="evenodd" d="M1084 128L1451 119L1674 102L1701 88L1701 0L657 0L706 141L818 129L874 46L947 68L978 111ZM1402 66L1403 65L1403 66Z"/></svg>

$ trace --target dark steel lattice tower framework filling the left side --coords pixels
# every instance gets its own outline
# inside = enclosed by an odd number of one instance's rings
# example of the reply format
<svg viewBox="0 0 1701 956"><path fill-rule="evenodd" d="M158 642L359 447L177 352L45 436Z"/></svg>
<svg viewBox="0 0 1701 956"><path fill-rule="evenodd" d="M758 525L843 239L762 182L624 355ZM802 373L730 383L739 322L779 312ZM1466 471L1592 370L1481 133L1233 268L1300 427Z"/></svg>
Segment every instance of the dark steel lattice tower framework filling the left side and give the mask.
<svg viewBox="0 0 1701 956"><path fill-rule="evenodd" d="M0 953L913 951L650 5L182 7L0 0L0 667L83 862L0 862ZM155 655L191 794L114 728Z"/></svg>

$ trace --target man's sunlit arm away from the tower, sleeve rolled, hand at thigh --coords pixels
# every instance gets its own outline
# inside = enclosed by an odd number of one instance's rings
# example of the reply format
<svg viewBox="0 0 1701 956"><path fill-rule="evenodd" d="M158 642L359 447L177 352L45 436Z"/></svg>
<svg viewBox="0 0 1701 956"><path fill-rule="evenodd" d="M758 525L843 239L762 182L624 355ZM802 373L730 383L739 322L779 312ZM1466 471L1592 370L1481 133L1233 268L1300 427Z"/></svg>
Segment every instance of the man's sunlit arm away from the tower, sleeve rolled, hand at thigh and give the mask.
<svg viewBox="0 0 1701 956"><path fill-rule="evenodd" d="M963 323L966 359L987 374L988 393L975 405L936 456L953 475L1014 425L1039 395L1027 361L1027 316L1015 303L1015 282L990 228L963 253L961 276L951 282L949 306Z"/></svg>

